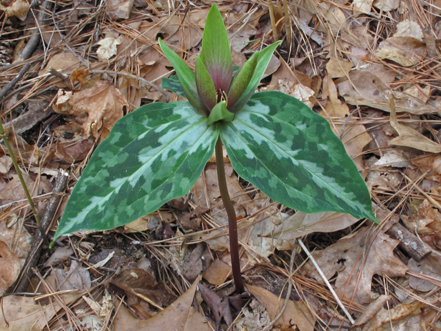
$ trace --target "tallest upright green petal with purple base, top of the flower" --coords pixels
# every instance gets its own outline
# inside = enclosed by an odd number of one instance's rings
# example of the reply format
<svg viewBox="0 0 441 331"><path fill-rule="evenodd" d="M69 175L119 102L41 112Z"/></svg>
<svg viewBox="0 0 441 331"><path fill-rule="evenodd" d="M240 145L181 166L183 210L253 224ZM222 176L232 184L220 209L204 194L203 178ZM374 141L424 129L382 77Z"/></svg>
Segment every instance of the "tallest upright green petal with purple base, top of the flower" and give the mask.
<svg viewBox="0 0 441 331"><path fill-rule="evenodd" d="M216 90L227 92L233 77L233 60L232 52L229 50L227 29L216 3L213 3L207 14L201 54Z"/></svg>

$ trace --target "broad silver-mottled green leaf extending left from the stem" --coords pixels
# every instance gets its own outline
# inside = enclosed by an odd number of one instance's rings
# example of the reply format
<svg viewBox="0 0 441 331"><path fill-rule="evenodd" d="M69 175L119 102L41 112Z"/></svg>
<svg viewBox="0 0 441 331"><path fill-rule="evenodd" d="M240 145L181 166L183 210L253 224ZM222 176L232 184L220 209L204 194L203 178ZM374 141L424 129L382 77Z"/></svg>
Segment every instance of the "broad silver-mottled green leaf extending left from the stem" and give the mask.
<svg viewBox="0 0 441 331"><path fill-rule="evenodd" d="M187 194L213 154L218 131L187 101L150 103L127 114L96 148L55 239L124 225Z"/></svg>

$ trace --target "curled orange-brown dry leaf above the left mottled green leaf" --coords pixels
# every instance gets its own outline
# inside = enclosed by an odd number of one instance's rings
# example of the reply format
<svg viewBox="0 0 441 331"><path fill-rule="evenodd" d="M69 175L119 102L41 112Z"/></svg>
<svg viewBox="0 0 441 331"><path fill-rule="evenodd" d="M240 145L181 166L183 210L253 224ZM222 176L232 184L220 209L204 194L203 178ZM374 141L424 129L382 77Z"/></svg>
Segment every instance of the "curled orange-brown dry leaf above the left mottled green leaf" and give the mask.
<svg viewBox="0 0 441 331"><path fill-rule="evenodd" d="M127 101L121 92L108 81L96 81L94 86L76 92L69 101L72 109L61 114L73 114L77 121L83 122L84 136L101 139L108 136L116 121L123 117ZM87 117L84 119L84 114Z"/></svg>

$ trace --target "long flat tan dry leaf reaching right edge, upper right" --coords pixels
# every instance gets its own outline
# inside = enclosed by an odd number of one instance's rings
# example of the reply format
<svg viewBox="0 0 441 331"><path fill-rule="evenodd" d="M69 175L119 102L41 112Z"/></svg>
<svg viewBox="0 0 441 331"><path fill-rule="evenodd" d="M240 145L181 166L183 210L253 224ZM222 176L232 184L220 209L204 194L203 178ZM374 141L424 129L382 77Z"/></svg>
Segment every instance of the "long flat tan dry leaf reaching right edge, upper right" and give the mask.
<svg viewBox="0 0 441 331"><path fill-rule="evenodd" d="M389 101L384 91L390 90L387 83L376 77L369 70L355 70L349 74L349 80L338 83L338 92L347 103L356 106L370 106L389 112ZM396 98L397 112L427 114L438 112L437 107L422 103L409 94L393 91Z"/></svg>

